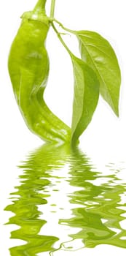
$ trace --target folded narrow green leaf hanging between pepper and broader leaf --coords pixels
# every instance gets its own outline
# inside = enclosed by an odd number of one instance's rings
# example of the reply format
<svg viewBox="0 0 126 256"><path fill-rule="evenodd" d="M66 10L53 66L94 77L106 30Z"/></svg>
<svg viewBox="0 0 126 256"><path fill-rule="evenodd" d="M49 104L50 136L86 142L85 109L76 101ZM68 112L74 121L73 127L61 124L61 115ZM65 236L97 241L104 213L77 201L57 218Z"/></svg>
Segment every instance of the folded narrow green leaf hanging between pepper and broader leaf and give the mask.
<svg viewBox="0 0 126 256"><path fill-rule="evenodd" d="M98 104L99 81L97 75L81 59L71 55L74 69L74 103L71 125L71 144L76 144L92 119Z"/></svg>

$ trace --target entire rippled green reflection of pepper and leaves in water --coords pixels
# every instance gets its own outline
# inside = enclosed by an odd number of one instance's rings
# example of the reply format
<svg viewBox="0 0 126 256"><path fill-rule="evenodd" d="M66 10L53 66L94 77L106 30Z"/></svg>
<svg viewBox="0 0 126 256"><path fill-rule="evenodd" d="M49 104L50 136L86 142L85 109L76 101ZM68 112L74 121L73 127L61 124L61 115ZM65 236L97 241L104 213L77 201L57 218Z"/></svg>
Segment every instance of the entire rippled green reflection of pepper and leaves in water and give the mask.
<svg viewBox="0 0 126 256"><path fill-rule="evenodd" d="M10 248L10 255L55 255L98 244L126 248L126 203L121 199L126 184L119 171L95 170L79 148L52 144L31 153L19 167L20 186L5 210L15 214L7 224L18 225L11 238L25 244Z"/></svg>

